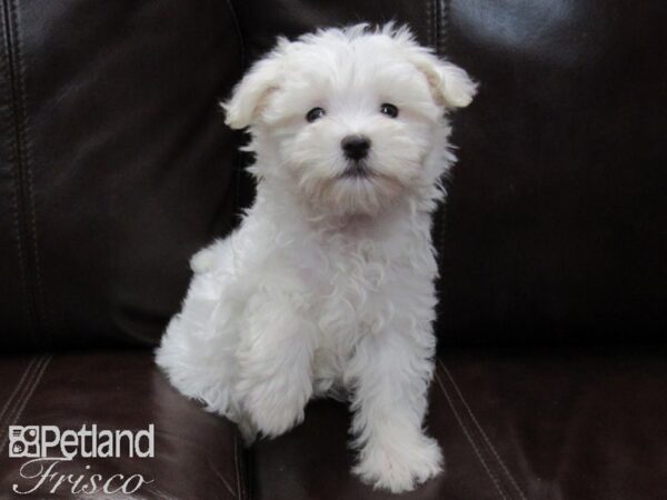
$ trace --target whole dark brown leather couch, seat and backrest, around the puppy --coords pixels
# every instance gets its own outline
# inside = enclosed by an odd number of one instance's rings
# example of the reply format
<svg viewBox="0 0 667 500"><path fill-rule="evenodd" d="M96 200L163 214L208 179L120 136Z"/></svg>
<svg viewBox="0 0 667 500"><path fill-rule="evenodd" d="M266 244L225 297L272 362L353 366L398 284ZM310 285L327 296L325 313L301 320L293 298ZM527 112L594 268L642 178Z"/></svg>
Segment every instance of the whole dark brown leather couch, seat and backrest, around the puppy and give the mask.
<svg viewBox="0 0 667 500"><path fill-rule="evenodd" d="M251 199L217 101L278 33L390 19L481 82L435 228L447 474L405 498L667 498L665 2L0 3L0 498L34 482L8 426L83 423L155 423L153 459L59 469L152 478L133 499L392 498L341 404L245 450L151 359Z"/></svg>

